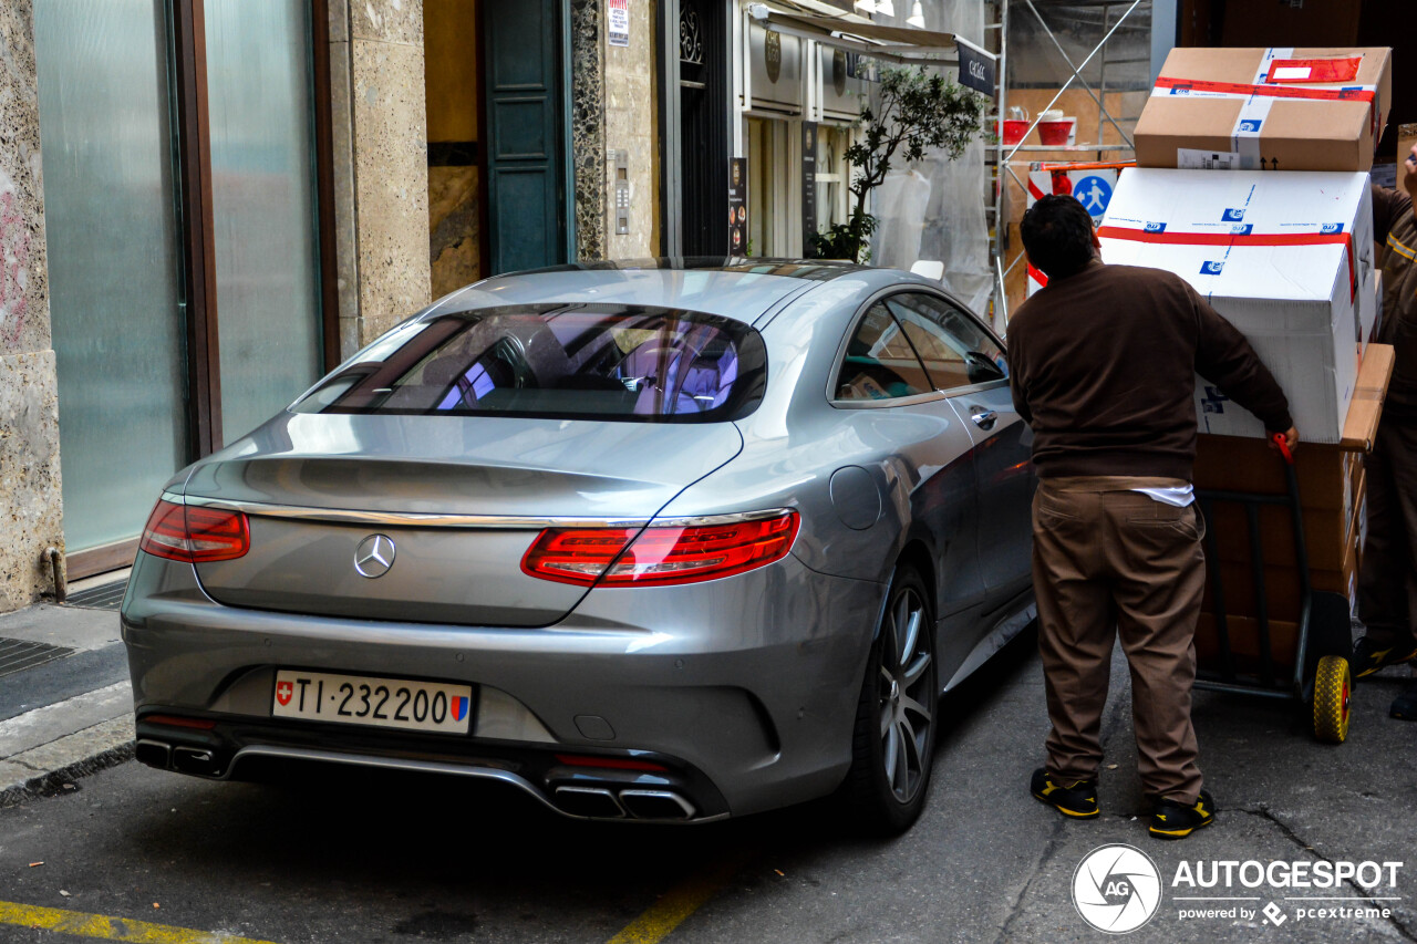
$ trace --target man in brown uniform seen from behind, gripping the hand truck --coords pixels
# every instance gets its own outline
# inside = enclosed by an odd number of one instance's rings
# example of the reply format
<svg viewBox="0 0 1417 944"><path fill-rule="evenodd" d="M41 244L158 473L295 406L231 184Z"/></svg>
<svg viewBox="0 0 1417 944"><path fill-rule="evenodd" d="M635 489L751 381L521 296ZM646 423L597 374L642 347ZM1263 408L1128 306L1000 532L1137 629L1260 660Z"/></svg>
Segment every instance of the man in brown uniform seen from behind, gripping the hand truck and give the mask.
<svg viewBox="0 0 1417 944"><path fill-rule="evenodd" d="M1023 248L1047 288L1009 322L1013 403L1033 428L1033 588L1047 690L1047 765L1033 795L1094 816L1102 706L1117 636L1131 663L1138 772L1151 835L1214 819L1196 767L1190 686L1204 524L1190 488L1195 374L1298 434L1254 350L1180 276L1104 265L1073 197L1039 200Z"/></svg>

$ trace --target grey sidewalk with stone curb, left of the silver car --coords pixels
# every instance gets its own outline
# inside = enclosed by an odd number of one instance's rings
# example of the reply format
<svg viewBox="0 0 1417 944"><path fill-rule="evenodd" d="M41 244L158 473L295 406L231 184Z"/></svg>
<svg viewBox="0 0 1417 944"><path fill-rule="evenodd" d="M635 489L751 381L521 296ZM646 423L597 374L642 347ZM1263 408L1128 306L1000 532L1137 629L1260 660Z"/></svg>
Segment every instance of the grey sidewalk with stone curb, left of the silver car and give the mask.
<svg viewBox="0 0 1417 944"><path fill-rule="evenodd" d="M118 612L38 604L0 615L0 807L133 755Z"/></svg>

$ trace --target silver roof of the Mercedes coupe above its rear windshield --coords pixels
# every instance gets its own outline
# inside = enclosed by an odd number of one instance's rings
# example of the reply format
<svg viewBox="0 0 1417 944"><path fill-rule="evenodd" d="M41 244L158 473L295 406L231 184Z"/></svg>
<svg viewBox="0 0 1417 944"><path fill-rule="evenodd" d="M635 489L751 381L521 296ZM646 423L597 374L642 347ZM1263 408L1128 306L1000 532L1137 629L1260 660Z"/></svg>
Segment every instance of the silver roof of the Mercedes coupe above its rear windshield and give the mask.
<svg viewBox="0 0 1417 944"><path fill-rule="evenodd" d="M820 283L867 272L823 259L663 258L582 262L475 282L428 313L493 305L619 303L679 308L752 323L779 302Z"/></svg>

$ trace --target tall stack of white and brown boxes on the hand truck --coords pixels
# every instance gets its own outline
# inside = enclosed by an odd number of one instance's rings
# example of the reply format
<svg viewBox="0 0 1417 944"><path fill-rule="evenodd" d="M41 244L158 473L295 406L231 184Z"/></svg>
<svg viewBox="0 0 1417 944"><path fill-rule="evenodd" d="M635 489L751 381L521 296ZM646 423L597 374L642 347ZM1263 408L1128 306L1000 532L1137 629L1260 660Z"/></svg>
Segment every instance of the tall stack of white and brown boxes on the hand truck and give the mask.
<svg viewBox="0 0 1417 944"><path fill-rule="evenodd" d="M1102 258L1185 278L1250 340L1289 397L1308 575L1356 604L1362 452L1372 448L1391 349L1370 344L1382 310L1367 169L1386 123L1390 51L1173 50L1136 125L1098 230ZM1264 425L1196 378L1197 489L1287 495ZM1260 658L1254 551L1241 506L1207 526L1234 665ZM1292 665L1301 607L1292 512L1260 513L1275 665ZM1213 583L1213 581L1212 581ZM1213 587L1196 634L1219 651Z"/></svg>

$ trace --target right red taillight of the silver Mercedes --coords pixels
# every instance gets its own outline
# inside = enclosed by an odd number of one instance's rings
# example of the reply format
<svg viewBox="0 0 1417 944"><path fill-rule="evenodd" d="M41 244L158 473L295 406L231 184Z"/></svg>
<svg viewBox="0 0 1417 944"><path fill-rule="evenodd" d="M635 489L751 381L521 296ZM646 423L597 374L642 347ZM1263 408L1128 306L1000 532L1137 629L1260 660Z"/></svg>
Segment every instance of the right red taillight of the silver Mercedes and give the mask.
<svg viewBox="0 0 1417 944"><path fill-rule="evenodd" d="M774 517L703 524L650 526L635 536L623 527L551 527L521 558L521 571L563 584L604 587L691 584L741 574L792 549L796 512ZM628 547L626 547L628 546Z"/></svg>

